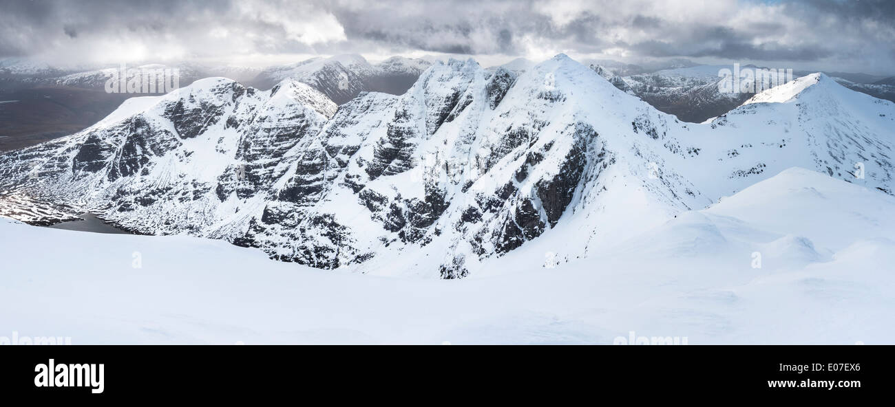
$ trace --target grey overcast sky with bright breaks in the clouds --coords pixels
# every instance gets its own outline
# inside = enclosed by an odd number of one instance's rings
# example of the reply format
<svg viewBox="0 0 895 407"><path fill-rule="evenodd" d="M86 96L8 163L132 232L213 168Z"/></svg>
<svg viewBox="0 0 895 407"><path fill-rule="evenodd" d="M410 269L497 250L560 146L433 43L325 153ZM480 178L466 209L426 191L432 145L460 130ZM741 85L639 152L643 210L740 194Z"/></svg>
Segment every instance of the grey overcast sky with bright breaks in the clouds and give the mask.
<svg viewBox="0 0 895 407"><path fill-rule="evenodd" d="M684 57L895 74L895 1L0 0L0 57L51 64L311 55Z"/></svg>

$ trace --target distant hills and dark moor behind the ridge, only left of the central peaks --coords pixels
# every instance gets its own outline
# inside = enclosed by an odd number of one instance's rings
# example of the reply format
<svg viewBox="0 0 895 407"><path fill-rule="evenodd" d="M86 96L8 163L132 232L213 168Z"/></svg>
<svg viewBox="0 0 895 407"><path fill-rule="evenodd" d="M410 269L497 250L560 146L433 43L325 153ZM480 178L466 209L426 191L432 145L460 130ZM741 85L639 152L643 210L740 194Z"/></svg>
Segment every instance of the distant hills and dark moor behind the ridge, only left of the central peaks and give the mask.
<svg viewBox="0 0 895 407"><path fill-rule="evenodd" d="M338 55L264 69L207 64L127 68L177 69L180 86L209 77L226 77L245 86L270 89L283 79L293 78L341 104L362 91L402 94L429 64L422 59L395 56L373 65L360 55ZM0 151L81 131L112 113L124 99L146 96L107 93L106 82L119 69L54 68L17 59L0 62L0 101L8 101L0 106Z"/></svg>

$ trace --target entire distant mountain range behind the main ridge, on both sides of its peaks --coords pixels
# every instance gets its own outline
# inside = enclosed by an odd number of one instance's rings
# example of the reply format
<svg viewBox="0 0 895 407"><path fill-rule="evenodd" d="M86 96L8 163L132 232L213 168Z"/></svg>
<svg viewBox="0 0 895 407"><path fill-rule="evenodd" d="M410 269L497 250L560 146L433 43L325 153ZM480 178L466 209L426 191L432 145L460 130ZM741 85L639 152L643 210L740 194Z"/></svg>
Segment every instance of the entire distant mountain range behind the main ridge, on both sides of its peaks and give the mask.
<svg viewBox="0 0 895 407"><path fill-rule="evenodd" d="M214 64L151 64L132 68L176 68L180 86L204 78L224 77L247 87L270 89L279 81L292 78L342 105L363 91L403 94L429 67L430 60L394 56L379 64L370 64L361 55L336 55L267 68ZM701 123L724 114L751 96L718 91L718 70L725 65L700 65L686 59L644 65L611 60L586 60L584 64L592 66L618 89L685 122ZM509 72L521 73L533 65L519 58L500 66ZM21 58L0 61L0 100L15 101L0 108L0 151L81 131L111 113L124 98L134 96L104 91L107 79L118 69L60 68ZM794 75L808 73L811 72L794 72ZM827 72L827 75L848 89L895 100L895 83L891 77L848 72Z"/></svg>

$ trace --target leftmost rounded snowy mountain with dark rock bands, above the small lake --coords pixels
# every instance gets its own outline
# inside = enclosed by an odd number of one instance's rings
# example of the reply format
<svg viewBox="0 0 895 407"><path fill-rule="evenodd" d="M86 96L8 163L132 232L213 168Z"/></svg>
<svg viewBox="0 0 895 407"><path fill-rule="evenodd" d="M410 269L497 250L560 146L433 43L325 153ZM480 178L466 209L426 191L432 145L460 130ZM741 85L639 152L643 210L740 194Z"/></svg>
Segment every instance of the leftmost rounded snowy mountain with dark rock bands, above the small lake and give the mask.
<svg viewBox="0 0 895 407"><path fill-rule="evenodd" d="M85 131L4 156L0 175L5 188L76 204L135 232L233 239L239 217L286 171L286 151L335 110L294 81L259 92L211 78L129 99Z"/></svg>

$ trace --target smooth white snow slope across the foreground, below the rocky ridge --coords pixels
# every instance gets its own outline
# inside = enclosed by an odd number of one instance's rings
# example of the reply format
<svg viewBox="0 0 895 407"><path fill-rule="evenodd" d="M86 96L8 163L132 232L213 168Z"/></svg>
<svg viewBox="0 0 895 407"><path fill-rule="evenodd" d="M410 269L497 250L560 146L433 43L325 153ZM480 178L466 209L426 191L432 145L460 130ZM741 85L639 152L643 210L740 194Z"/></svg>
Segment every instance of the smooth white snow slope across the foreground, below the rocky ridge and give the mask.
<svg viewBox="0 0 895 407"><path fill-rule="evenodd" d="M0 220L0 335L72 343L891 343L895 198L793 168L556 267L431 280ZM538 250L531 247L524 250ZM761 267L754 268L754 253ZM141 267L132 267L134 253ZM514 252L515 253L515 252ZM549 265L548 265L549 266Z"/></svg>

